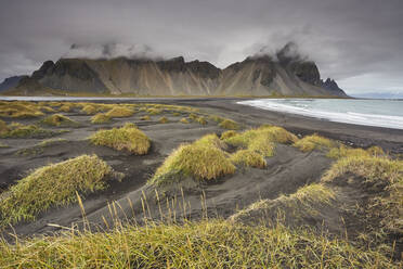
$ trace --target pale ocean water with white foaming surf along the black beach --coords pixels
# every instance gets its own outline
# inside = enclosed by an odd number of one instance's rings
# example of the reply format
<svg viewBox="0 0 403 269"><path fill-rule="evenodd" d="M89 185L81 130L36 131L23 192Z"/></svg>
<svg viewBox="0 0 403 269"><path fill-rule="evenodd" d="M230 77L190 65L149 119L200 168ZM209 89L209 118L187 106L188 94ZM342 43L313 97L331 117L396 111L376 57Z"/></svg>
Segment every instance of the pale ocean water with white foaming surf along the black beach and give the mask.
<svg viewBox="0 0 403 269"><path fill-rule="evenodd" d="M237 103L330 121L403 129L403 100L259 99Z"/></svg>

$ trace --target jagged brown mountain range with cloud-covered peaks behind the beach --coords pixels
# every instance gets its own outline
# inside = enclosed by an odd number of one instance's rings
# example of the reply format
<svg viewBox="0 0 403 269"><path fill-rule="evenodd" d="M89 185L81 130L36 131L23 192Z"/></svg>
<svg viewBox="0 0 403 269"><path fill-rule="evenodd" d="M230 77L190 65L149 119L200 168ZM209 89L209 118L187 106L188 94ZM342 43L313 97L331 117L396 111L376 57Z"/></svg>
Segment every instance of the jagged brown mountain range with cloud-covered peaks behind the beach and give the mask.
<svg viewBox="0 0 403 269"><path fill-rule="evenodd" d="M220 69L208 62L150 59L47 61L9 94L133 93L139 95L335 95L337 84L321 80L314 62L262 54Z"/></svg>

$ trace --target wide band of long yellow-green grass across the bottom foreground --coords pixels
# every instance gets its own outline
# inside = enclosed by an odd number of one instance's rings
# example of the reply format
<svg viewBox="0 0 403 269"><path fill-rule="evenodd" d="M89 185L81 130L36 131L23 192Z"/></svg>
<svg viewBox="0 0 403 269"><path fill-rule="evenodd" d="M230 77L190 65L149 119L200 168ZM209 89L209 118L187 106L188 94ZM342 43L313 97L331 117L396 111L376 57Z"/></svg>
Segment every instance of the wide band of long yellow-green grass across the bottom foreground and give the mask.
<svg viewBox="0 0 403 269"><path fill-rule="evenodd" d="M401 268L369 247L307 229L205 220L65 232L0 242L0 267L14 268Z"/></svg>

